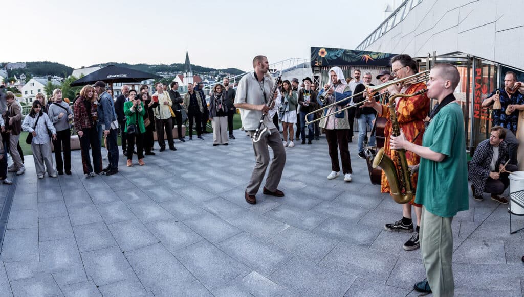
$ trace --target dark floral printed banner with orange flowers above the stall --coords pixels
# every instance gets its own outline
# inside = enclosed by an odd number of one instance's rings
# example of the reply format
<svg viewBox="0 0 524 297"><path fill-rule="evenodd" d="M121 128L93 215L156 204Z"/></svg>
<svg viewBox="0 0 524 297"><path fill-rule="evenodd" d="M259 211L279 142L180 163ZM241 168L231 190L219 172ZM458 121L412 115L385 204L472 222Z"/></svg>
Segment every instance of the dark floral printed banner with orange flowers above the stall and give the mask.
<svg viewBox="0 0 524 297"><path fill-rule="evenodd" d="M396 54L311 48L311 67L314 66L389 66L389 60Z"/></svg>

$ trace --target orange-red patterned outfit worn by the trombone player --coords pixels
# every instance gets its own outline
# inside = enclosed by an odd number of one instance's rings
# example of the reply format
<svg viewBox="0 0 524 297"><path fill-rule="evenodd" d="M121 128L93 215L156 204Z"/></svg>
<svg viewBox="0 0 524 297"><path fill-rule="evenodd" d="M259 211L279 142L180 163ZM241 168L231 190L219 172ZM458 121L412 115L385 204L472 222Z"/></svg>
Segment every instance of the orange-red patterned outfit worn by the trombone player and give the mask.
<svg viewBox="0 0 524 297"><path fill-rule="evenodd" d="M421 89L425 89L426 85L425 83L417 83L409 86L404 94L410 95L418 92ZM417 140L414 142L415 144L422 145L422 134L424 132L424 119L428 116L429 113L429 106L430 106L430 100L426 93L418 96L408 97L408 98L400 98L398 100L398 104L396 106L397 110L397 120L400 126L400 129L404 132L404 135L406 135L406 139L410 142L413 142L413 139L417 134L420 132L420 135L418 136ZM381 117L387 118L386 126L384 128L384 135L386 137L386 140L384 142L384 152L386 155L388 155L393 162L395 163L395 166L397 165L397 160L394 154L394 150L390 149L389 146L389 139L391 134L393 133L393 129L391 126L391 120L389 119L389 109L386 105L382 106L382 113ZM420 163L420 156L410 152L406 151L406 159L408 161L408 165L417 165ZM417 176L418 174L411 175L411 185L413 187L413 191L417 189ZM382 178L381 178L381 187L380 191L383 193L389 193L389 182L386 178L386 175L384 174L384 171L382 172ZM415 200L415 197L413 196L413 200L410 202L413 204L413 201Z"/></svg>

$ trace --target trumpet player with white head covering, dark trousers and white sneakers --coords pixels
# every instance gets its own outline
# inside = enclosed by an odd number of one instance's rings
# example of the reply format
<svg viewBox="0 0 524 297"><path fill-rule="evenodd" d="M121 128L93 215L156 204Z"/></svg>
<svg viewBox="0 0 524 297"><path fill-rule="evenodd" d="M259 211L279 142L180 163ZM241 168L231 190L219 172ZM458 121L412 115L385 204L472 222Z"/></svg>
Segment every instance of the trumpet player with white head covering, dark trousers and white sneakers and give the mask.
<svg viewBox="0 0 524 297"><path fill-rule="evenodd" d="M328 140L329 156L331 158L331 173L328 179L333 179L339 176L339 152L342 159L342 172L344 173L344 180L351 181L350 150L347 145L348 129L350 123L348 122L347 109L337 112L343 106L349 103L348 97L351 96L350 87L346 83L344 73L340 67L333 67L328 72L331 78L331 84L326 84L319 95L316 97L321 106L330 105L336 102L329 108L325 108L322 116L330 115L320 120L320 127L326 133L326 140Z"/></svg>

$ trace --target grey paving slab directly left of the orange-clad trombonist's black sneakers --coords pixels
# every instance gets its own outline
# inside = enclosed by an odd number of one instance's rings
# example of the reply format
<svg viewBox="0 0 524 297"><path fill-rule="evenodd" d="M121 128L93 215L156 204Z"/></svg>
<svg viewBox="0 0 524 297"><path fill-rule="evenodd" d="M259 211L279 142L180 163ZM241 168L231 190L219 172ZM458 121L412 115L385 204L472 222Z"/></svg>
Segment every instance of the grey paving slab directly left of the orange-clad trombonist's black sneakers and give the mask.
<svg viewBox="0 0 524 297"><path fill-rule="evenodd" d="M380 230L366 225L356 225L354 220L333 216L313 230L324 237L369 247L377 238Z"/></svg>

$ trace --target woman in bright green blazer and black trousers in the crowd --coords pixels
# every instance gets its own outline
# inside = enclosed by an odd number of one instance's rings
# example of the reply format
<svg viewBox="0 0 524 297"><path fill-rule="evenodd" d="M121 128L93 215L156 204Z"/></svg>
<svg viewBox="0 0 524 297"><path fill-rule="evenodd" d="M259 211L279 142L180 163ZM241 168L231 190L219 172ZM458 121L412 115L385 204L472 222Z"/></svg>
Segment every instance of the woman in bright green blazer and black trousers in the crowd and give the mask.
<svg viewBox="0 0 524 297"><path fill-rule="evenodd" d="M133 166L131 159L133 158L133 150L138 154L138 164L140 166L146 165L144 163L144 133L146 133L146 126L144 125L144 115L146 109L144 103L137 97L136 90L129 91L129 101L124 103L124 115L126 115L126 128L124 132L127 133L127 167Z"/></svg>

